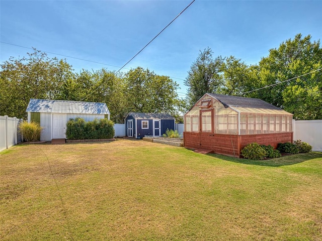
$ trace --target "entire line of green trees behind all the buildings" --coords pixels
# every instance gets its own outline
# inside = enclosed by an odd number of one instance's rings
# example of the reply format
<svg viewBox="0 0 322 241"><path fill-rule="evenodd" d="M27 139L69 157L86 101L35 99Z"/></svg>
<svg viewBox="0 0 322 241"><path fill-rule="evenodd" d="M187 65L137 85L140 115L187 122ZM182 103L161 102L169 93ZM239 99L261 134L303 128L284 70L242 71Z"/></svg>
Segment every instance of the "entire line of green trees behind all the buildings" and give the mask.
<svg viewBox="0 0 322 241"><path fill-rule="evenodd" d="M206 48L188 71L187 98L181 99L175 81L149 69L75 73L66 60L34 49L28 57L1 63L0 115L26 118L29 99L39 98L105 102L115 123L123 123L130 111L170 113L180 121L180 114L211 92L260 98L293 113L295 119L322 119L321 69L320 43L311 42L309 35L282 42L256 65L234 56L213 57Z"/></svg>

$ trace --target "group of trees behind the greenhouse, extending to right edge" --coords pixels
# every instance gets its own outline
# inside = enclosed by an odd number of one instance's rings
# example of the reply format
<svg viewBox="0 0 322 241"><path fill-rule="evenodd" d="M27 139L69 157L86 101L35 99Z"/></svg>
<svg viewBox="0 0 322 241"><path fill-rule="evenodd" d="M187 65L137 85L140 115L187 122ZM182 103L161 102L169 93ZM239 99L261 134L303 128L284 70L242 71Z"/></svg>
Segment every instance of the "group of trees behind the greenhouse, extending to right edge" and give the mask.
<svg viewBox="0 0 322 241"><path fill-rule="evenodd" d="M185 84L190 106L211 92L260 98L295 119L322 119L322 49L309 35L282 42L257 65L234 56L213 57L207 48L192 64Z"/></svg>

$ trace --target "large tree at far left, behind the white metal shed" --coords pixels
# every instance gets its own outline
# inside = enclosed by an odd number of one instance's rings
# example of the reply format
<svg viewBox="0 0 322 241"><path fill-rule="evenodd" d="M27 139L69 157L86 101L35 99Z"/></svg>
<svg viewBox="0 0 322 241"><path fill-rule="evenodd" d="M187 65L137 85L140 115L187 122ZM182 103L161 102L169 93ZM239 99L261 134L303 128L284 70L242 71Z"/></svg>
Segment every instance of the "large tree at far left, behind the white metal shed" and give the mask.
<svg viewBox="0 0 322 241"><path fill-rule="evenodd" d="M27 58L11 57L0 65L1 115L26 117L30 98L55 98L62 84L73 76L65 60L50 59L36 49L27 54Z"/></svg>

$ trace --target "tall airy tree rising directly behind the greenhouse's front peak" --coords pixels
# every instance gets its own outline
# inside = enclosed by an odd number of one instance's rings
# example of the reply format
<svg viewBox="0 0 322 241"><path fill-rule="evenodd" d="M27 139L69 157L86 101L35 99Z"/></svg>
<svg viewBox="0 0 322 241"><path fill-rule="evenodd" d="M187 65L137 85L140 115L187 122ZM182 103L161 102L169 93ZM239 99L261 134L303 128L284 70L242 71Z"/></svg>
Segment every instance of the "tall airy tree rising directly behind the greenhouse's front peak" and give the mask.
<svg viewBox="0 0 322 241"><path fill-rule="evenodd" d="M221 56L212 58L212 50L208 47L200 51L197 60L193 62L188 71L185 85L188 86L188 102L190 106L195 104L205 93L217 92L222 86Z"/></svg>

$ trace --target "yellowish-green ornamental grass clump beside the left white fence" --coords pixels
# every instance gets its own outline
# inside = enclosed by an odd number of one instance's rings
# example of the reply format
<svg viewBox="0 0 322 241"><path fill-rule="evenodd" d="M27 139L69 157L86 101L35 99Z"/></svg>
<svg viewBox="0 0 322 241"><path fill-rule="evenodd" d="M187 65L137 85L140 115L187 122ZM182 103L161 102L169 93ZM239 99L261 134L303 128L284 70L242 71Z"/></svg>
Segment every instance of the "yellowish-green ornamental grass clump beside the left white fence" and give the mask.
<svg viewBox="0 0 322 241"><path fill-rule="evenodd" d="M24 141L37 142L40 141L40 134L43 127L37 122L23 121L19 124L19 133L22 134Z"/></svg>

